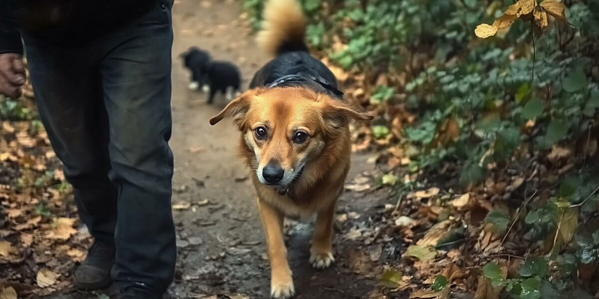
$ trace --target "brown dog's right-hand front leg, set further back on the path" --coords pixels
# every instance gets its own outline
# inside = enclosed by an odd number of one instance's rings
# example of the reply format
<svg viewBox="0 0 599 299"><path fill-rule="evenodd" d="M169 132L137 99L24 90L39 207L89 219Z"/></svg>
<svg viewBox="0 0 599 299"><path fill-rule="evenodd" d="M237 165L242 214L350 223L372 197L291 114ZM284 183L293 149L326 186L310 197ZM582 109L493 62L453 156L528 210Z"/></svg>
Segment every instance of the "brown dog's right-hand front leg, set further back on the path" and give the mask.
<svg viewBox="0 0 599 299"><path fill-rule="evenodd" d="M327 268L335 261L332 250L332 235L336 202L337 200L327 208L320 210L316 215L312 248L310 249L310 263L312 267L317 269Z"/></svg>

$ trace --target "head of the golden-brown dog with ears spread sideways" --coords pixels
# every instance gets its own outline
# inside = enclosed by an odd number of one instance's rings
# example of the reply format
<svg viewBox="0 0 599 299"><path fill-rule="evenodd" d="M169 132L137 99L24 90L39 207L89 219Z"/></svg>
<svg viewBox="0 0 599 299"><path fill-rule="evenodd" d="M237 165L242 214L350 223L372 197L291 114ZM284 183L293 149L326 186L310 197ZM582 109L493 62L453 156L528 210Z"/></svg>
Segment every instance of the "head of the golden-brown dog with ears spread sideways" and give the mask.
<svg viewBox="0 0 599 299"><path fill-rule="evenodd" d="M347 132L350 118L373 118L341 100L302 87L246 91L210 118L210 124L227 115L255 155L259 181L279 190L297 181L327 142Z"/></svg>

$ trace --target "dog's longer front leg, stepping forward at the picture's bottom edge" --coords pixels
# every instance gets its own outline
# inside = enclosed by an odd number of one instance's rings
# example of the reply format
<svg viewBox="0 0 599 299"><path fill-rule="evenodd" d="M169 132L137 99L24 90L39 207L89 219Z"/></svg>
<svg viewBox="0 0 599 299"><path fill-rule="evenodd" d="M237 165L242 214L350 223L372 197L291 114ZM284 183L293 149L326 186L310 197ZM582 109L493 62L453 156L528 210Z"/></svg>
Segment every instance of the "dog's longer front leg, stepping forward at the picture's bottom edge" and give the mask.
<svg viewBox="0 0 599 299"><path fill-rule="evenodd" d="M258 199L258 210L268 246L270 260L270 295L272 298L291 298L295 295L294 280L287 262L283 241L283 213Z"/></svg>

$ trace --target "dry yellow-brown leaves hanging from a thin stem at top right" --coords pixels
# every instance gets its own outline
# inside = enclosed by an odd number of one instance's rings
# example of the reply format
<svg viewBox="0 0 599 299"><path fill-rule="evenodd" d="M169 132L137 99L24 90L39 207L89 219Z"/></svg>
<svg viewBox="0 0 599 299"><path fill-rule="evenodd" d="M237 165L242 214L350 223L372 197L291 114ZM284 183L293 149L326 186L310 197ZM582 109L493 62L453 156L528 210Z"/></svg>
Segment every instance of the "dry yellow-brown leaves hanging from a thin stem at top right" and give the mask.
<svg viewBox="0 0 599 299"><path fill-rule="evenodd" d="M549 25L547 14L550 14L556 20L565 22L564 10L564 4L556 0L544 0L539 5L537 5L536 0L519 0L510 5L492 25L480 24L476 26L474 33L479 38L488 38L494 36L497 32L510 28L518 18L530 19L531 17L535 31L542 33Z"/></svg>

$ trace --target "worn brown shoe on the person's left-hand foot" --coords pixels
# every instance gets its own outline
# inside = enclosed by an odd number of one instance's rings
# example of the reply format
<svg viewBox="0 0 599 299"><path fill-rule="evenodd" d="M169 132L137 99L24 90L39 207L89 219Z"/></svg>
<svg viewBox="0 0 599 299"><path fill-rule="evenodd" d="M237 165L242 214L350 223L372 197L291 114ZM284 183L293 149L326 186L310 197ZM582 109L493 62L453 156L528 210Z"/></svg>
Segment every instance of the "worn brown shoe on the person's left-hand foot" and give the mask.
<svg viewBox="0 0 599 299"><path fill-rule="evenodd" d="M75 270L75 286L79 289L105 289L112 284L110 270L114 264L113 243L94 241L87 257Z"/></svg>

